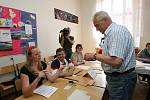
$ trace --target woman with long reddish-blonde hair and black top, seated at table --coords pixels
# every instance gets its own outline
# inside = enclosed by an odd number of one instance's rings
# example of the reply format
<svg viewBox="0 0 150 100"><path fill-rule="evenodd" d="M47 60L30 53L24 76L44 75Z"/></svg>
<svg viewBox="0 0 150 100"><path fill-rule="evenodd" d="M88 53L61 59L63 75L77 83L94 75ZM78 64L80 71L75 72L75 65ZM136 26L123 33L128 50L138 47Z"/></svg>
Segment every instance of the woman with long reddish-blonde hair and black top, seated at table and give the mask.
<svg viewBox="0 0 150 100"><path fill-rule="evenodd" d="M55 75L50 75L47 65L41 62L40 50L31 46L27 50L27 62L21 69L22 92L24 97L29 97L33 94L34 89L42 84L44 78L50 82L54 82L63 68L59 68Z"/></svg>

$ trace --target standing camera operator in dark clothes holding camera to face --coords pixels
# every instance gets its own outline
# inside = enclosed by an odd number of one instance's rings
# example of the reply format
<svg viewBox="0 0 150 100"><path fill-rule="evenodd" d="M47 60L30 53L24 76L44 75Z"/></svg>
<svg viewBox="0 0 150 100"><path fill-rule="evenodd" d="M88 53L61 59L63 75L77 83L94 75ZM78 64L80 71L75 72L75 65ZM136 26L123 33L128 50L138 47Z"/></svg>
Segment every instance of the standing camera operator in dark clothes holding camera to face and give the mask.
<svg viewBox="0 0 150 100"><path fill-rule="evenodd" d="M59 35L59 43L63 47L66 59L69 60L72 55L72 45L74 44L74 37L70 36L70 28L64 28L60 31Z"/></svg>

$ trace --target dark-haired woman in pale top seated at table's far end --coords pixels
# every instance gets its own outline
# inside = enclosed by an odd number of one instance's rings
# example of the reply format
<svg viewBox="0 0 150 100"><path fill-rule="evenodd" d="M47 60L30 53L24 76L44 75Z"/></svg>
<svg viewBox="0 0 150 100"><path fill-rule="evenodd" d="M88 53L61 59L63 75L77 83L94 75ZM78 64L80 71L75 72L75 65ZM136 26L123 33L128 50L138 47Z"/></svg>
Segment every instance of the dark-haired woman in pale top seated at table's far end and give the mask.
<svg viewBox="0 0 150 100"><path fill-rule="evenodd" d="M83 50L82 45L77 44L76 51L71 56L71 60L75 66L85 63L82 50Z"/></svg>

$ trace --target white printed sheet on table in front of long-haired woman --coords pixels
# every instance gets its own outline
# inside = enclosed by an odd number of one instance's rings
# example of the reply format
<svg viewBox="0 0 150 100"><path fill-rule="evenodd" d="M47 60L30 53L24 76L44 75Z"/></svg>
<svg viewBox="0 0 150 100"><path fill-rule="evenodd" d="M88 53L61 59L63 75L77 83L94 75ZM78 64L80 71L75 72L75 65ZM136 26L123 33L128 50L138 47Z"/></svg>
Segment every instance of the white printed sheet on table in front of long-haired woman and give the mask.
<svg viewBox="0 0 150 100"><path fill-rule="evenodd" d="M58 88L56 87L41 85L40 87L36 88L33 93L49 98L54 92L56 92L57 89Z"/></svg>

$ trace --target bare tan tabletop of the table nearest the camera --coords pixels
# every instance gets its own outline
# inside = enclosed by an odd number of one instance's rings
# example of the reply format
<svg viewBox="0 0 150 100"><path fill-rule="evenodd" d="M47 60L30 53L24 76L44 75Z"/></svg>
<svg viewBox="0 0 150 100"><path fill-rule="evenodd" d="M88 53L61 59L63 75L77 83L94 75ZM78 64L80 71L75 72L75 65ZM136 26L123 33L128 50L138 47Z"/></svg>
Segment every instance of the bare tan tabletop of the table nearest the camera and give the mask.
<svg viewBox="0 0 150 100"><path fill-rule="evenodd" d="M44 84L54 86L54 87L58 88L58 90L49 98L45 98L43 96L34 94L33 96L31 96L29 98L24 98L23 96L20 96L20 97L16 98L15 100L67 100L67 97L69 95L71 95L71 93L75 89L87 91L88 95L90 95L90 97L91 97L90 100L101 100L103 93L104 93L103 88L94 87L94 86L84 87L81 85L72 85L71 89L64 90L64 87L66 85L70 85L70 83L68 83L68 80L64 79L64 78L57 79L55 83L46 82Z"/></svg>

